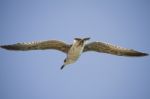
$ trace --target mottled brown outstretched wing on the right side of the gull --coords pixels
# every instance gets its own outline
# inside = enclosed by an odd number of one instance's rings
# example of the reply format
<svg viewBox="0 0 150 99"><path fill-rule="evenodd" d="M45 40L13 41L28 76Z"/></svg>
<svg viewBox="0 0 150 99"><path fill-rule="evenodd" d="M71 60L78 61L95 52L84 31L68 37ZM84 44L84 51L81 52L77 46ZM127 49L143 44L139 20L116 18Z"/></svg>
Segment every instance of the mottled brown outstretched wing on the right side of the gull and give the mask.
<svg viewBox="0 0 150 99"><path fill-rule="evenodd" d="M96 51L102 53L109 53L118 56L146 56L147 53L135 51L133 49L121 48L115 45L102 43L102 42L91 42L87 44L84 48L84 52L86 51Z"/></svg>

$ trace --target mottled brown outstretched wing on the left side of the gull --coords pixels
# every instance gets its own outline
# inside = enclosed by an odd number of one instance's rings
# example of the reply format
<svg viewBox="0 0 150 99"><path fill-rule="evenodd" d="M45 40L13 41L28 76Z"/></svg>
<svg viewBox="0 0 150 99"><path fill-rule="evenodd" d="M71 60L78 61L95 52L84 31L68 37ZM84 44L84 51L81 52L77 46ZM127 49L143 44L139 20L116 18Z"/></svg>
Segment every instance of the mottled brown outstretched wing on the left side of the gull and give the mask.
<svg viewBox="0 0 150 99"><path fill-rule="evenodd" d="M3 45L0 47L7 50L18 50L18 51L56 49L64 53L67 53L71 45L68 45L62 41L49 40L42 42L17 43L12 45Z"/></svg>

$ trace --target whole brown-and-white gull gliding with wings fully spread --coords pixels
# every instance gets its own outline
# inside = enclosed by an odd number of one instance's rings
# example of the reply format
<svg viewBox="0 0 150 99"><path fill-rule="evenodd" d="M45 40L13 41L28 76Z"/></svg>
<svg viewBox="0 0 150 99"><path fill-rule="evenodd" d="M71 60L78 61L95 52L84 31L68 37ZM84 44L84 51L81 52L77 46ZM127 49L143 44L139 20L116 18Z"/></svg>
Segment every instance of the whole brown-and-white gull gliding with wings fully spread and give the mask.
<svg viewBox="0 0 150 99"><path fill-rule="evenodd" d="M47 50L55 49L67 54L61 70L68 64L75 63L83 52L95 51L100 53L108 53L118 56L139 57L147 56L147 53L139 52L133 49L122 48L104 42L90 42L90 38L74 38L73 44L67 44L59 40L48 40L29 43L16 43L11 45L2 45L1 48L15 51L29 51L29 50Z"/></svg>

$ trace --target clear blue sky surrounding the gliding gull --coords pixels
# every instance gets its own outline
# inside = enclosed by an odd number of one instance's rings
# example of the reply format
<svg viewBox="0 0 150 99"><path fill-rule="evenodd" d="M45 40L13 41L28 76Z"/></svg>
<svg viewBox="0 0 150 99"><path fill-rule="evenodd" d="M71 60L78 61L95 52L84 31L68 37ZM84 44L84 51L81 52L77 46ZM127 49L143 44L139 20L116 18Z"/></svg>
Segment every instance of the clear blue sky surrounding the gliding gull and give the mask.
<svg viewBox="0 0 150 99"><path fill-rule="evenodd" d="M91 37L150 53L150 0L0 0L0 45ZM150 57L0 49L0 99L150 99Z"/></svg>

